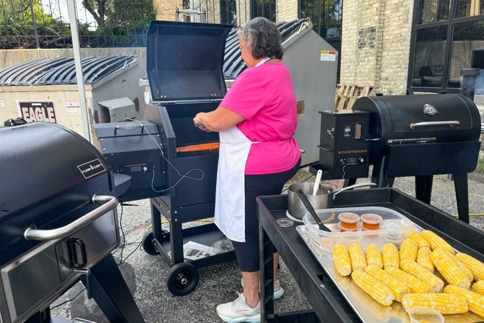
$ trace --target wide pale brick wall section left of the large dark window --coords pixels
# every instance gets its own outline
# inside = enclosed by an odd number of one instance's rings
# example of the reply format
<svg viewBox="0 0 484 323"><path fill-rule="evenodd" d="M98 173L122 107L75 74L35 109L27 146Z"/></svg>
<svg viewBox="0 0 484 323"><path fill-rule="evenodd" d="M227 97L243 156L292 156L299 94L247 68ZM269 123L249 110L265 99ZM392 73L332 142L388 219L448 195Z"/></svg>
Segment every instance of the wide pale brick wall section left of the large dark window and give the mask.
<svg viewBox="0 0 484 323"><path fill-rule="evenodd" d="M411 0L344 1L340 83L405 93L412 10Z"/></svg>

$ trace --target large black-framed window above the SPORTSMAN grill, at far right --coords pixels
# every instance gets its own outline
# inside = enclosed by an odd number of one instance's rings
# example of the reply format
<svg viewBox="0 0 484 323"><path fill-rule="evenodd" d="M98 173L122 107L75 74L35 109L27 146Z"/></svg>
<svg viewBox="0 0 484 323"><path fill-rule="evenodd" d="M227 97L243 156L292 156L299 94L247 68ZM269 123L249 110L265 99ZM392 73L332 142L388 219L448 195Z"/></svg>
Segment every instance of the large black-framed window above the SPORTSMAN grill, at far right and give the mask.
<svg viewBox="0 0 484 323"><path fill-rule="evenodd" d="M459 92L460 71L484 53L484 0L414 1L408 84Z"/></svg>

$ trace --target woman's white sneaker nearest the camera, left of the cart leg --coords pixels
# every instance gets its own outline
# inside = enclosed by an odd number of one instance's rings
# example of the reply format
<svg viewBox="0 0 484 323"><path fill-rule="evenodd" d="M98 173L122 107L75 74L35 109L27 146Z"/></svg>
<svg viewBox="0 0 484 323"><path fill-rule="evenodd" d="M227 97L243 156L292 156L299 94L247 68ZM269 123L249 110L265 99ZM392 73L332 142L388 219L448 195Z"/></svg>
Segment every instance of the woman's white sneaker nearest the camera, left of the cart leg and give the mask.
<svg viewBox="0 0 484 323"><path fill-rule="evenodd" d="M254 308L245 302L245 295L239 294L234 302L224 303L217 306L217 314L223 322L261 322L261 302Z"/></svg>

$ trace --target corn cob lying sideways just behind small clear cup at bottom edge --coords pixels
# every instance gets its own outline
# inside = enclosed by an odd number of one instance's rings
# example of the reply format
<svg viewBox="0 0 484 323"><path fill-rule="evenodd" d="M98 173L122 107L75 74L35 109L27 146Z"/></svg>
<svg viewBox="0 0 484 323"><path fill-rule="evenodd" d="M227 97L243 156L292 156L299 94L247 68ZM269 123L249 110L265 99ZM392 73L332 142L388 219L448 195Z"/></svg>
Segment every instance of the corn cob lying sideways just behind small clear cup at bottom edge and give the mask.
<svg viewBox="0 0 484 323"><path fill-rule="evenodd" d="M448 293L411 293L402 296L405 311L415 306L432 308L441 314L458 314L467 312L465 297Z"/></svg>

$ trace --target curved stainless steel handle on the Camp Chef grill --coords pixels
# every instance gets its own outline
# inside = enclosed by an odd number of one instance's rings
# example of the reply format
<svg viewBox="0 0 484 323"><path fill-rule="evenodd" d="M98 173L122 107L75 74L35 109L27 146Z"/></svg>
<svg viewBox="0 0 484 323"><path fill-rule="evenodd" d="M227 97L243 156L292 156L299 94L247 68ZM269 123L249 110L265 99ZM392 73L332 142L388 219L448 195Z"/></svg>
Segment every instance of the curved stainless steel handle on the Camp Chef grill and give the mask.
<svg viewBox="0 0 484 323"><path fill-rule="evenodd" d="M109 195L93 195L91 201L93 201L93 203L104 204L100 207L97 207L95 210L84 214L79 219L69 223L68 225L64 225L61 228L50 230L38 230L28 228L24 231L24 238L26 240L47 241L66 237L69 234L72 234L73 232L79 230L87 223L90 223L98 217L102 216L106 212L113 210L113 208L118 205L118 199L116 199L114 196Z"/></svg>

